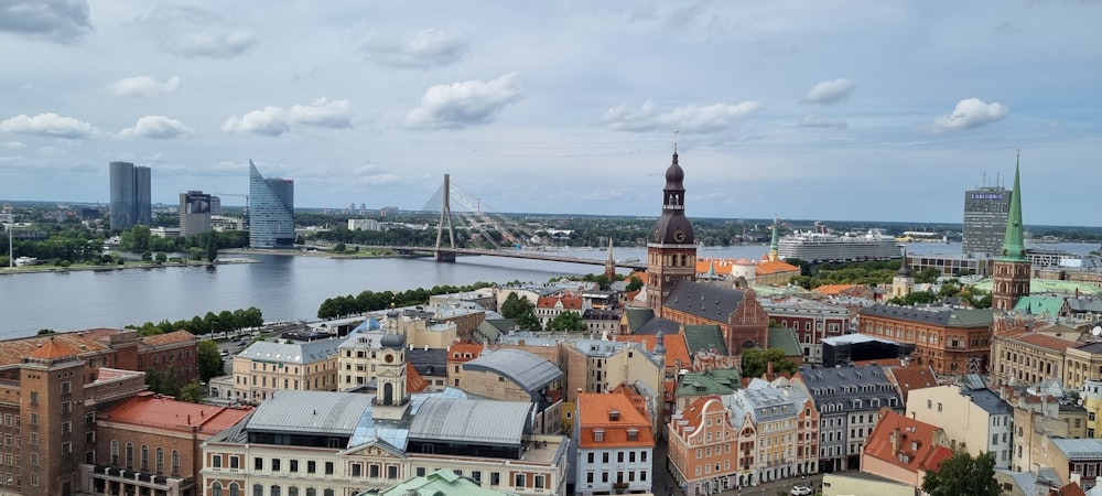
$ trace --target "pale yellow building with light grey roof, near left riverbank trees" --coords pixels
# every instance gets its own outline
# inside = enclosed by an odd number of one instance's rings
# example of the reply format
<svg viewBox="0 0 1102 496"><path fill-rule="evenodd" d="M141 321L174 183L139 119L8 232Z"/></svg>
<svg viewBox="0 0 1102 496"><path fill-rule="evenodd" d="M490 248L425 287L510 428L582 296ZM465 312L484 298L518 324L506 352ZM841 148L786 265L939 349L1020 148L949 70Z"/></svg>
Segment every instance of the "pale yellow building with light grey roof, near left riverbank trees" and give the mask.
<svg viewBox="0 0 1102 496"><path fill-rule="evenodd" d="M341 338L252 343L234 356L233 400L257 403L277 391L335 391L342 343Z"/></svg>

